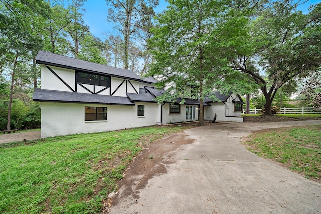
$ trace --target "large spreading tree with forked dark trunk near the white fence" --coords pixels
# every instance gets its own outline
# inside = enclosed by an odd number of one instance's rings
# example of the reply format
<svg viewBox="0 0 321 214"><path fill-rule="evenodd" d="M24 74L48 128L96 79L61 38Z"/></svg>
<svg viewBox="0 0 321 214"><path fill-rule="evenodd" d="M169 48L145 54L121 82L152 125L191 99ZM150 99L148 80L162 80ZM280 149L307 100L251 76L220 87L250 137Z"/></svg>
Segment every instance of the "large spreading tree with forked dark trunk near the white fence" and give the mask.
<svg viewBox="0 0 321 214"><path fill-rule="evenodd" d="M251 75L261 86L269 115L276 92L284 84L321 66L320 3L305 15L297 10L301 2L270 1L263 5L258 17L252 19L248 39L241 41L251 44L252 51L238 52L231 60L232 68Z"/></svg>

